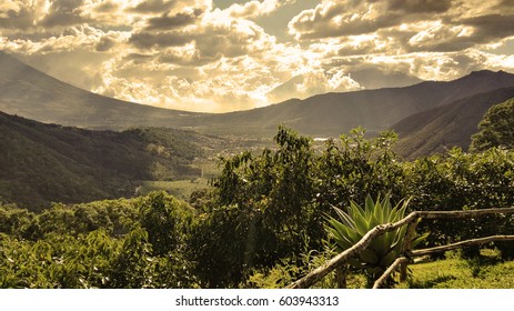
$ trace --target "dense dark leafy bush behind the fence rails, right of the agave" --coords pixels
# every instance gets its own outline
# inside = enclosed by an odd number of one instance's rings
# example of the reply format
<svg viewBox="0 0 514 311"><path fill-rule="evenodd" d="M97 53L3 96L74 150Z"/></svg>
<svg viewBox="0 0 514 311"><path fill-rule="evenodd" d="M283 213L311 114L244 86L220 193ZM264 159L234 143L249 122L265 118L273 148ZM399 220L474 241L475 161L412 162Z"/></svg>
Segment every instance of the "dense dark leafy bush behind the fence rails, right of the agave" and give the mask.
<svg viewBox="0 0 514 311"><path fill-rule="evenodd" d="M514 205L514 152L492 148L466 153L455 148L446 154L434 154L405 163L405 184L415 210L460 210L508 208ZM423 220L422 230L430 230L432 245L493 234L510 234L512 217L487 215L463 220ZM511 243L512 244L512 243ZM502 243L504 255L512 249ZM465 250L476 255L477 248Z"/></svg>

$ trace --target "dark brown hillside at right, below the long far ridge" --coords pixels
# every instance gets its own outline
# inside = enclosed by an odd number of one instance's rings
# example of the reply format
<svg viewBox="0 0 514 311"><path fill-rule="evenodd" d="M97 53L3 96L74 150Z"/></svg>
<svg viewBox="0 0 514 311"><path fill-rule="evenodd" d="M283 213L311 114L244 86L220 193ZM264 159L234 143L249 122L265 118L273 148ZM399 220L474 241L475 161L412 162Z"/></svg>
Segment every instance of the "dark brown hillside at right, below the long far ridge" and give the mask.
<svg viewBox="0 0 514 311"><path fill-rule="evenodd" d="M512 98L514 88L503 88L410 116L392 127L400 137L396 151L415 159L452 147L467 150L485 112Z"/></svg>

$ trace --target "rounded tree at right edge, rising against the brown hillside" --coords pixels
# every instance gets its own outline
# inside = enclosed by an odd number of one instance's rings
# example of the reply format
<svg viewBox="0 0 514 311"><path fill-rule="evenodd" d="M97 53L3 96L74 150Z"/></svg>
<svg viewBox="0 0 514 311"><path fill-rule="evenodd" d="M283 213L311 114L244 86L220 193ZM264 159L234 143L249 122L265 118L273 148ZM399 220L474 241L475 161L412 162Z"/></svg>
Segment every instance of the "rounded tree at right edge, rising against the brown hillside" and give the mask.
<svg viewBox="0 0 514 311"><path fill-rule="evenodd" d="M493 106L472 137L470 149L483 151L492 147L514 148L514 99Z"/></svg>

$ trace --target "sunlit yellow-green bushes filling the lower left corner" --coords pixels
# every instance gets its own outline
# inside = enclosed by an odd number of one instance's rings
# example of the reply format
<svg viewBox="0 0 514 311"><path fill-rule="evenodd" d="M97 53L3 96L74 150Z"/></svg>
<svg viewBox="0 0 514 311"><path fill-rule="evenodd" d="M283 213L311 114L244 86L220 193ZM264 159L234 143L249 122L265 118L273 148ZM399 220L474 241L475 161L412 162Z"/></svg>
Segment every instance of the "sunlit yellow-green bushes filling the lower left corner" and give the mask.
<svg viewBox="0 0 514 311"><path fill-rule="evenodd" d="M0 288L195 287L185 260L191 208L163 192L0 209Z"/></svg>

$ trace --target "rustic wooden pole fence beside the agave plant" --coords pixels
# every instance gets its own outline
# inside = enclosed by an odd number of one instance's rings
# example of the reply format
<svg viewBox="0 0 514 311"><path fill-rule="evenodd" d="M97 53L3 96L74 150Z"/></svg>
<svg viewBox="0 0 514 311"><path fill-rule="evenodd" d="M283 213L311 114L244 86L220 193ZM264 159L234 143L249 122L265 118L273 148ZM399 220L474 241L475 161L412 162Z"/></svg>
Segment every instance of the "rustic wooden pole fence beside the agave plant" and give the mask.
<svg viewBox="0 0 514 311"><path fill-rule="evenodd" d="M412 262L413 258L429 255L437 252L460 249L464 247L471 245L481 245L484 243L493 242L493 241L514 241L514 235L492 235L492 237L484 237L478 239L472 239L466 241L461 241L447 245L430 248L430 249L420 249L420 250L412 250L410 245L410 241L412 240L412 235L415 232L415 227L420 219L458 219L458 218L474 218L481 217L486 214L510 214L514 213L514 208L506 208L506 209L485 209L485 210L470 210L470 211L414 211L410 213L404 219L394 222L394 223L385 223L374 227L372 230L367 231L362 239L355 243L350 249L339 253L334 258L327 260L324 264L319 267L318 269L313 270L302 279L291 283L288 288L290 289L306 289L311 288L320 280L322 280L326 274L334 270L343 269L344 264L347 262L349 259L356 257L363 251L375 237L384 234L385 232L393 231L399 229L400 227L407 225L406 230L406 239L405 244L403 245L403 253L399 257L389 269L375 281L373 288L377 289L382 285L382 283L387 279L387 277L395 271L396 269L401 269L400 279L403 281L406 277L406 268L407 264ZM344 278L342 273L337 273L337 283L343 284Z"/></svg>

